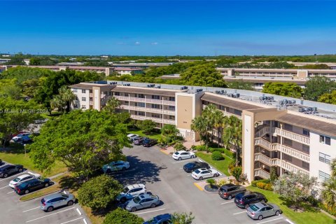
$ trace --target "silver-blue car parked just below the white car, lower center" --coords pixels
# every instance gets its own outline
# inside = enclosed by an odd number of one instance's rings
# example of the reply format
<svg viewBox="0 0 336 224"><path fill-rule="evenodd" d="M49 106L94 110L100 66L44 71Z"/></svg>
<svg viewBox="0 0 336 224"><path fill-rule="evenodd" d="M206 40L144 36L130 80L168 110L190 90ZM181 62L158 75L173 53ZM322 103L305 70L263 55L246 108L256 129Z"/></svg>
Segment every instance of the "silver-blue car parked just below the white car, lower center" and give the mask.
<svg viewBox="0 0 336 224"><path fill-rule="evenodd" d="M130 200L127 203L125 209L127 211L137 211L139 209L146 208L155 208L160 204L160 199L157 195L139 195L138 197L134 197L134 199Z"/></svg>

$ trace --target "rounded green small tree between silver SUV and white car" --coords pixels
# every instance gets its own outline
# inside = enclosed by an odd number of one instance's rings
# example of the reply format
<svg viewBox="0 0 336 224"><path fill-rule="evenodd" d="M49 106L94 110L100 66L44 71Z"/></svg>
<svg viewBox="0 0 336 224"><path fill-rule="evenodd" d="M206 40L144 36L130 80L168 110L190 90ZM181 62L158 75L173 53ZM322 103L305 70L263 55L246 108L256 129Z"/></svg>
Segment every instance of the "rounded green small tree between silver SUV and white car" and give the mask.
<svg viewBox="0 0 336 224"><path fill-rule="evenodd" d="M83 183L78 190L78 202L92 211L106 209L123 190L123 186L111 176L96 176Z"/></svg>

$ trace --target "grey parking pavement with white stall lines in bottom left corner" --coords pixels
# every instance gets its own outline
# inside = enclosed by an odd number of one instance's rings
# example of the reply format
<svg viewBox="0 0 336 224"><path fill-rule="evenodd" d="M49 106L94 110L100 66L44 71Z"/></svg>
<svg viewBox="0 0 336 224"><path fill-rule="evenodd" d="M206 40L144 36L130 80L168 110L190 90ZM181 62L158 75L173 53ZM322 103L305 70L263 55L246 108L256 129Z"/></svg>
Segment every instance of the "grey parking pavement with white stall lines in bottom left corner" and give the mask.
<svg viewBox="0 0 336 224"><path fill-rule="evenodd" d="M23 173L27 172L25 170ZM51 212L45 212L40 209L42 197L38 197L27 202L20 201L20 195L17 195L8 183L15 177L22 175L15 174L6 179L0 179L0 223L57 223L57 224L85 224L90 223L83 210L78 204L70 207L62 207Z"/></svg>

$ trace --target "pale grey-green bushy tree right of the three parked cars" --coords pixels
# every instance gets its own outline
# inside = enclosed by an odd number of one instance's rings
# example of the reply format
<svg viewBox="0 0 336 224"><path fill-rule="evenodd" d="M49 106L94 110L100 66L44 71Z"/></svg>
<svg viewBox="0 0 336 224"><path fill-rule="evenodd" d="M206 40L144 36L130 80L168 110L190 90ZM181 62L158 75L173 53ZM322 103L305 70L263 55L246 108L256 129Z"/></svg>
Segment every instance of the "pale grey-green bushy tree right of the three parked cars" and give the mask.
<svg viewBox="0 0 336 224"><path fill-rule="evenodd" d="M316 184L316 177L309 178L308 174L302 172L289 172L274 181L274 192L281 195L288 204L299 208L311 196L311 190L314 190Z"/></svg>

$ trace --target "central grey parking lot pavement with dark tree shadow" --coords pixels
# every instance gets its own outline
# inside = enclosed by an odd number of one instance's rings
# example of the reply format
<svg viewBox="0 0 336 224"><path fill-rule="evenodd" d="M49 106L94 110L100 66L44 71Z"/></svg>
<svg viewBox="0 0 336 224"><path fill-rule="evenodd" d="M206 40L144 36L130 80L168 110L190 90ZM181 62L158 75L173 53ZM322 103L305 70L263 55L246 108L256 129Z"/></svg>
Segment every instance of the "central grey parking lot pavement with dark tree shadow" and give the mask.
<svg viewBox="0 0 336 224"><path fill-rule="evenodd" d="M171 155L162 153L156 146L144 148L134 146L125 148L130 169L113 174L124 186L145 183L147 190L158 195L160 206L134 212L145 220L159 214L174 212L193 212L193 223L270 223L286 222L283 215L253 221L246 215L245 209L239 209L234 200L223 200L218 193L207 193L197 188L191 174L184 172L183 165L193 160L176 161ZM221 176L220 176L221 177Z"/></svg>

